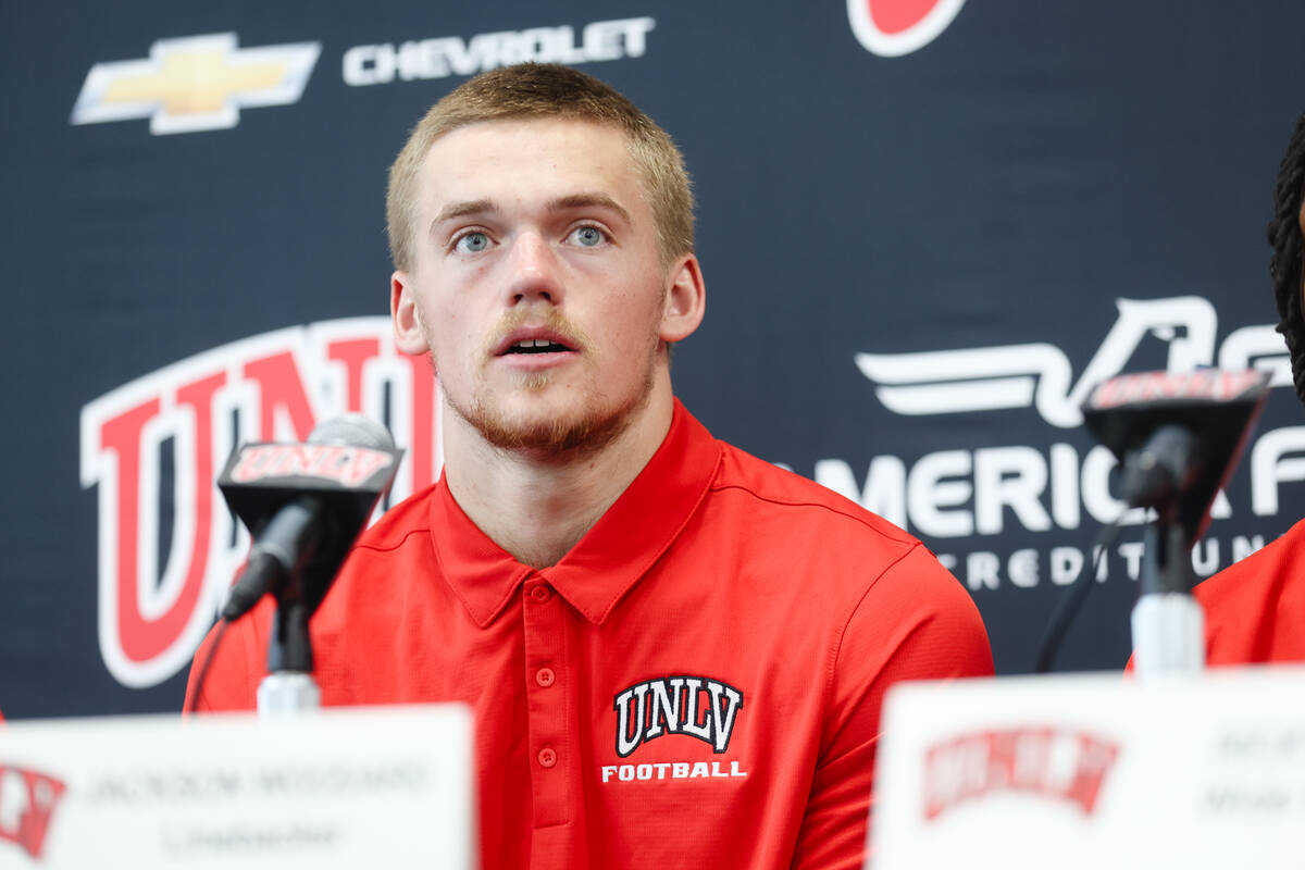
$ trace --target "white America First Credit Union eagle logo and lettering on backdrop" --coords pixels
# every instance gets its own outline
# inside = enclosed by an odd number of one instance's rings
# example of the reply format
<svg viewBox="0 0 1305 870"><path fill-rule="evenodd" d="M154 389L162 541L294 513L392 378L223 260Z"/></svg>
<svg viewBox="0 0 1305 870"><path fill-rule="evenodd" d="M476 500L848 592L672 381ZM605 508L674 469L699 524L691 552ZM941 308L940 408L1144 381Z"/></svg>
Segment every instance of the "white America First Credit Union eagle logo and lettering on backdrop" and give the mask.
<svg viewBox="0 0 1305 870"><path fill-rule="evenodd" d="M1206 299L1121 299L1116 307L1113 326L1077 377L1066 353L1044 342L855 357L873 385L873 397L894 413L920 417L977 411L994 420L993 412L1034 410L1052 427L1048 443L975 449L960 438L955 449L923 457L876 455L869 468L818 459L812 476L925 537L972 591L1071 582L1092 556L1074 540L1045 535L1035 547L1002 552L1000 539L981 539L1092 528L1114 522L1124 511L1125 505L1111 492L1116 466L1111 451L1095 446L1084 453L1069 442L1082 436L1060 434L1082 424L1079 407L1094 387L1128 367L1139 368L1137 359L1143 351L1158 350L1173 374L1218 364L1271 372L1274 386L1292 382L1283 339L1271 325L1233 330L1220 343L1218 317ZM1279 497L1284 483L1305 479L1305 467L1293 458L1302 451L1305 427L1257 433L1238 472L1249 477L1250 503L1233 505L1220 494L1212 510L1215 519L1237 517L1241 528L1197 545L1193 562L1198 577L1249 556L1265 544L1266 533L1272 540L1285 530L1276 519ZM1244 522L1249 517L1274 519ZM1142 520L1142 513L1135 511L1126 522ZM975 549L949 553L944 539L968 539ZM1121 543L1103 560L1098 579L1120 574L1137 579L1141 558L1139 543Z"/></svg>

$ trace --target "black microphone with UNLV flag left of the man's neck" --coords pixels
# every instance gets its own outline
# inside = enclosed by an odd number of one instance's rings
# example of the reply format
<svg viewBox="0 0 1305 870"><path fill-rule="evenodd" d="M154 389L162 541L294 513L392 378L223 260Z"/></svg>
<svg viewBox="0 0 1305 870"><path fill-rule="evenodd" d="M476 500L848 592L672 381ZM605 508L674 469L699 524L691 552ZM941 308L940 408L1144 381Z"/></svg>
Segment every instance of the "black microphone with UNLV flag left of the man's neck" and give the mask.
<svg viewBox="0 0 1305 870"><path fill-rule="evenodd" d="M268 592L303 603L311 616L402 455L385 427L360 413L320 423L307 443L236 450L218 488L254 543L222 618L239 620Z"/></svg>

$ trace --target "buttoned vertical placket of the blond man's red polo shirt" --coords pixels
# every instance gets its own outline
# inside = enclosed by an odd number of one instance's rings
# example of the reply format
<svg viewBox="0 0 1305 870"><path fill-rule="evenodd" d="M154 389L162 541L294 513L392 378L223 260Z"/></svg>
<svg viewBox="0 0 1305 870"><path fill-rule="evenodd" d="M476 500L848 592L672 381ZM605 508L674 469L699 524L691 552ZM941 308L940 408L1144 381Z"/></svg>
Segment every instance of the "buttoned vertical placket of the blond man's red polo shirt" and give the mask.
<svg viewBox="0 0 1305 870"><path fill-rule="evenodd" d="M570 822L569 781L576 750L566 729L565 603L538 574L523 586L526 708L535 828Z"/></svg>

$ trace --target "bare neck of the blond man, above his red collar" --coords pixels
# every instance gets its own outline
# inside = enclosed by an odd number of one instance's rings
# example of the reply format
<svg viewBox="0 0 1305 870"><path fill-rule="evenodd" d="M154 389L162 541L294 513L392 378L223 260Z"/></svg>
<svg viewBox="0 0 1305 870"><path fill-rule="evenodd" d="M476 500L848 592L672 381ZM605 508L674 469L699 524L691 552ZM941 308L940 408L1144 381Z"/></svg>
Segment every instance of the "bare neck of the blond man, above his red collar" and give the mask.
<svg viewBox="0 0 1305 870"><path fill-rule="evenodd" d="M535 569L556 565L662 446L673 413L669 378L658 387L600 450L548 458L487 443L445 406L449 492L471 522L518 562Z"/></svg>

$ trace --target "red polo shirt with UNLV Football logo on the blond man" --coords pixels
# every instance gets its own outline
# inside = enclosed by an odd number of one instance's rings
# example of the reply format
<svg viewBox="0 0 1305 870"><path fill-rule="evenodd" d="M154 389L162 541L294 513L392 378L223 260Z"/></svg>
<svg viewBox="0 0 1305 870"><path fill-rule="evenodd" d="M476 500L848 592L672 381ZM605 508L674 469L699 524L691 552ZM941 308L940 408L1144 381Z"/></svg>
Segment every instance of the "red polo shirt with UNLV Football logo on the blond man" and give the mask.
<svg viewBox="0 0 1305 870"><path fill-rule="evenodd" d="M268 617L232 626L201 710L254 706ZM441 481L363 535L312 631L325 704L472 707L491 869L859 869L885 689L992 673L919 541L679 403L556 566Z"/></svg>

